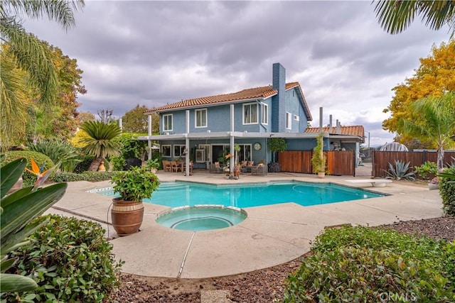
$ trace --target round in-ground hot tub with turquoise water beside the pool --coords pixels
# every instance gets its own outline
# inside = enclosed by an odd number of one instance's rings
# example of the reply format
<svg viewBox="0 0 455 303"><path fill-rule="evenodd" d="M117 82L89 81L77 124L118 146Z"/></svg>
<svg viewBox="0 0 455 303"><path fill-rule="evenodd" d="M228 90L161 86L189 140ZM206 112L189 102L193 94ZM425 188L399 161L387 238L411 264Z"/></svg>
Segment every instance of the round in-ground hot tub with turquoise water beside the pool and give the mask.
<svg viewBox="0 0 455 303"><path fill-rule="evenodd" d="M156 222L162 226L185 231L208 231L234 226L246 218L247 212L237 207L196 205L162 211L156 216Z"/></svg>

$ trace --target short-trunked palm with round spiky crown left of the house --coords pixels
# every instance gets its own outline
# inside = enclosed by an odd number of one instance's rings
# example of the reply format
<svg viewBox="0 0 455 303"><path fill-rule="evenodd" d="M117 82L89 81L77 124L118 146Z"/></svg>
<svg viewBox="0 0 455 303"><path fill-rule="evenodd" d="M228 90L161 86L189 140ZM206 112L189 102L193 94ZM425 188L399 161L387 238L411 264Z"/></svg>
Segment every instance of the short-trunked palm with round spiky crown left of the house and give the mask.
<svg viewBox="0 0 455 303"><path fill-rule="evenodd" d="M122 131L115 123L102 123L101 121L87 121L81 126L89 138L81 138L80 143L84 144L82 151L95 155L89 170L95 172L102 160L106 157L119 155L122 144L112 139L119 136Z"/></svg>

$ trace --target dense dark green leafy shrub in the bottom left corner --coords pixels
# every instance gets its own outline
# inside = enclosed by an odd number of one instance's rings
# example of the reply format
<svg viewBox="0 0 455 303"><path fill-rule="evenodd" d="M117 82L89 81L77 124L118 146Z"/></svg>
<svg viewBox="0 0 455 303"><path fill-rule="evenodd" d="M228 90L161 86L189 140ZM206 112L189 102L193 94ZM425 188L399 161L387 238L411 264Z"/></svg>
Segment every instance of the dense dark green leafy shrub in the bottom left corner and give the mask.
<svg viewBox="0 0 455 303"><path fill-rule="evenodd" d="M118 287L112 244L100 224L49 215L49 222L14 252L12 272L33 277L38 288L6 293L6 302L102 302Z"/></svg>

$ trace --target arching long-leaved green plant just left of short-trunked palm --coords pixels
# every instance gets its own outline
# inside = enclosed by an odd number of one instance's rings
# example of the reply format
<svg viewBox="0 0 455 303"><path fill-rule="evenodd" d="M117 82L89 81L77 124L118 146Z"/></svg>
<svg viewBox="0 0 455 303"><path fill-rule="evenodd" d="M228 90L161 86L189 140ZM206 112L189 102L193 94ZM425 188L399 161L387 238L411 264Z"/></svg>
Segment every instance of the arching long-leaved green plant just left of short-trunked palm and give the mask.
<svg viewBox="0 0 455 303"><path fill-rule="evenodd" d="M47 155L54 163L60 162L59 169L63 172L73 172L77 163L81 162L76 148L62 140L41 140L38 143L28 143L28 150Z"/></svg>

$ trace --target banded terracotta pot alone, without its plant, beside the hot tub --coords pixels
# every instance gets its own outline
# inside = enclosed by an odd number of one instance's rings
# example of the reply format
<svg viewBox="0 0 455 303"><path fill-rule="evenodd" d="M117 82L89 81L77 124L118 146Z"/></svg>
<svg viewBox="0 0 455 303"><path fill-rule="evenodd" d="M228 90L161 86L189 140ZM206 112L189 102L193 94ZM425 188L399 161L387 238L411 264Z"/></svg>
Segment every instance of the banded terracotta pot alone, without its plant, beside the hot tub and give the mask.
<svg viewBox="0 0 455 303"><path fill-rule="evenodd" d="M137 233L144 219L144 204L136 201L124 201L122 198L114 198L112 203L112 226L117 235L127 236Z"/></svg>

